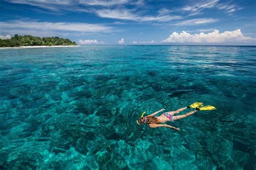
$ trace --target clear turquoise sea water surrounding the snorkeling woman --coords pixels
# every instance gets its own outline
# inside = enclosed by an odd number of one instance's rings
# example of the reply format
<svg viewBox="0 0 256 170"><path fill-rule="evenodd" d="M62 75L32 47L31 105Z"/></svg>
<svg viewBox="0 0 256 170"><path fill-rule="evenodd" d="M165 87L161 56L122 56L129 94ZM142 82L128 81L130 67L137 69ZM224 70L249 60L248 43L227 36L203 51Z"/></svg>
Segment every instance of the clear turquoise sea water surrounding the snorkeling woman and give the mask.
<svg viewBox="0 0 256 170"><path fill-rule="evenodd" d="M255 46L0 50L0 169L255 169L255 73Z"/></svg>

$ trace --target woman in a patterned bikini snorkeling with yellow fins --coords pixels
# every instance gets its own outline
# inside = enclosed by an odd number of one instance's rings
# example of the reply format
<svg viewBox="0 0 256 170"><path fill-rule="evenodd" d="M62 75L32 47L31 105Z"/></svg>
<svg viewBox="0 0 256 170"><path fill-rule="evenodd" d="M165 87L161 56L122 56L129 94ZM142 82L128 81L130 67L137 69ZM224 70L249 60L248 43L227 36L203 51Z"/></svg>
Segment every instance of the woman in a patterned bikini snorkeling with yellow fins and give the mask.
<svg viewBox="0 0 256 170"><path fill-rule="evenodd" d="M174 115L174 114L177 114L181 111L186 110L187 108L196 108L196 110L188 112L186 114L182 114L182 115ZM146 112L143 112L142 116L139 118L139 120L137 120L137 124L138 125L148 124L152 128L169 127L169 128L173 128L174 130L179 131L180 130L179 128L173 127L173 126L170 126L170 125L166 125L166 124L163 124L163 123L165 123L166 121L170 121L170 120L174 121L174 120L178 120L178 119L188 117L189 115L194 114L197 111L210 111L210 110L215 110L215 109L216 108L214 106L208 105L208 106L203 107L203 103L196 102L196 103L193 103L190 106L179 108L176 111L165 112L165 113L161 114L158 117L154 117L154 115L156 115L157 113L162 112L162 111L165 110L164 108L162 108L161 110L159 110L157 112L154 112L150 115L146 115L145 117L144 117L144 114Z"/></svg>

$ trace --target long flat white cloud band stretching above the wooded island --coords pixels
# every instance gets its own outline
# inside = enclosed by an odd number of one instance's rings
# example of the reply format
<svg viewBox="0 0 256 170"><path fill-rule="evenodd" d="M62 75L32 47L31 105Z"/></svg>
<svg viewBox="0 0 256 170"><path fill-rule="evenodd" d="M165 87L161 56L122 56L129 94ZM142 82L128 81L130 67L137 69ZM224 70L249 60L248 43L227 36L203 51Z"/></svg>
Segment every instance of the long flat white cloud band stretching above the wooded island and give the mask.
<svg viewBox="0 0 256 170"><path fill-rule="evenodd" d="M102 24L66 23L66 22L36 22L9 21L0 22L0 30L29 30L29 31L68 31L68 32L111 32L112 27ZM0 32L1 33L1 32ZM19 33L19 32L17 32Z"/></svg>

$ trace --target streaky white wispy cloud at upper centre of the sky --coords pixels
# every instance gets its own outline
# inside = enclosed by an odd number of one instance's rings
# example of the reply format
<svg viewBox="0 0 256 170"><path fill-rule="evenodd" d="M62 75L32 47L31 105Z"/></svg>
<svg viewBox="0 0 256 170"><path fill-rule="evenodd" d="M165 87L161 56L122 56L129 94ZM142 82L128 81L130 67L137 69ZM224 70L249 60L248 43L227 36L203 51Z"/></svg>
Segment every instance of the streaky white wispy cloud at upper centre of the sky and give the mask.
<svg viewBox="0 0 256 170"><path fill-rule="evenodd" d="M181 19L181 16L171 16L166 13L159 14L157 16L142 16L140 13L135 12L134 10L127 9L102 9L95 11L99 17L102 18L114 18L114 19L127 19L132 21L157 21L157 22L168 22L174 19Z"/></svg>

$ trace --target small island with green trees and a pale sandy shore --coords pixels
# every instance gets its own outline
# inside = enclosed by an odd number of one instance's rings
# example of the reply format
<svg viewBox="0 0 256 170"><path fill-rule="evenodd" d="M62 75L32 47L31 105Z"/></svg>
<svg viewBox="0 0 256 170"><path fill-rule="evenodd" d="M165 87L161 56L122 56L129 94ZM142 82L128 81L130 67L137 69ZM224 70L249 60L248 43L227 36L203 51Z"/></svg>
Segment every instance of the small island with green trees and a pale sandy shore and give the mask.
<svg viewBox="0 0 256 170"><path fill-rule="evenodd" d="M35 37L31 35L15 35L11 39L0 39L0 47L21 47L21 46L70 46L77 45L67 38L60 37Z"/></svg>

